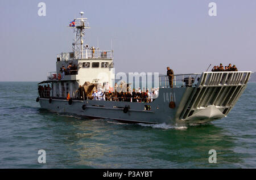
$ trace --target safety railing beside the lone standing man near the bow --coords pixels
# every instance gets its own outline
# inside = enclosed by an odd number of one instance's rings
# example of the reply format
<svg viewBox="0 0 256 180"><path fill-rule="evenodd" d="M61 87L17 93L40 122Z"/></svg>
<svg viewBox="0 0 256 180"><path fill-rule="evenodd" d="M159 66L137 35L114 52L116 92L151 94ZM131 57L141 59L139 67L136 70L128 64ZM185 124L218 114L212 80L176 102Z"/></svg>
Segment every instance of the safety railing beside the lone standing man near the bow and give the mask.
<svg viewBox="0 0 256 180"><path fill-rule="evenodd" d="M159 88L170 88L172 87L192 87L196 85L201 73L192 74L175 74L173 77L159 76Z"/></svg>

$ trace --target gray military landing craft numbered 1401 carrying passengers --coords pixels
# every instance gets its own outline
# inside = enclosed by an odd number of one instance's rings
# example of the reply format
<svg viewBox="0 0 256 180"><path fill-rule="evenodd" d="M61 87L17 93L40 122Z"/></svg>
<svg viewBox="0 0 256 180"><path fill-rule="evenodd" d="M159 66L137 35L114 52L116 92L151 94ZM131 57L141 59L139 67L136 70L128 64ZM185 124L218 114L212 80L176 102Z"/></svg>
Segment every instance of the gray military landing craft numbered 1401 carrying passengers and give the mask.
<svg viewBox="0 0 256 180"><path fill-rule="evenodd" d="M38 84L36 101L44 109L130 123L197 124L226 117L246 88L250 71L203 72L174 75L172 88L159 76L146 98L121 95L126 83L115 84L113 50L84 45L90 27L80 14L69 25L72 52L58 54L56 72Z"/></svg>

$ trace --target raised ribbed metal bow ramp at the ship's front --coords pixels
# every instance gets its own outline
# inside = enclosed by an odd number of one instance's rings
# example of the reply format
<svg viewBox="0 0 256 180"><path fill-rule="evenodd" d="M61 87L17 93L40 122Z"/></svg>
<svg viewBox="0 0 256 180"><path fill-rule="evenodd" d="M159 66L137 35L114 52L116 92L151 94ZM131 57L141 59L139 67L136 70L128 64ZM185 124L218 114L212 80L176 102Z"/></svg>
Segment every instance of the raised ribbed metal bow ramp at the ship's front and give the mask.
<svg viewBox="0 0 256 180"><path fill-rule="evenodd" d="M250 71L203 72L180 119L195 121L226 117L245 90L250 75Z"/></svg>

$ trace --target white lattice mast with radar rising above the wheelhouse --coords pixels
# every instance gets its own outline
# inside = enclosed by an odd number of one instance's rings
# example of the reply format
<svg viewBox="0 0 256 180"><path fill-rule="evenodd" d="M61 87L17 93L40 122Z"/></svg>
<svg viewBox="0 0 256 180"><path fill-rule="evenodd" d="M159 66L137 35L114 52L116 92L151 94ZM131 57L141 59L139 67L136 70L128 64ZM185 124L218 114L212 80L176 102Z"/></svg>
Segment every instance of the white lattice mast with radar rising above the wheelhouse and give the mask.
<svg viewBox="0 0 256 180"><path fill-rule="evenodd" d="M74 19L75 21L75 25L73 26L69 26L71 28L74 28L74 33L75 35L75 40L72 43L73 45L73 53L75 55L75 58L79 58L80 54L81 54L81 58L84 58L83 55L83 44L84 44L84 40L83 37L85 35L85 29L89 29L89 24L87 22L87 18L82 18L82 15L84 14L84 12L80 12L81 14L81 18L77 18ZM79 41L80 40L80 41ZM85 49L87 49L88 46L85 47Z"/></svg>

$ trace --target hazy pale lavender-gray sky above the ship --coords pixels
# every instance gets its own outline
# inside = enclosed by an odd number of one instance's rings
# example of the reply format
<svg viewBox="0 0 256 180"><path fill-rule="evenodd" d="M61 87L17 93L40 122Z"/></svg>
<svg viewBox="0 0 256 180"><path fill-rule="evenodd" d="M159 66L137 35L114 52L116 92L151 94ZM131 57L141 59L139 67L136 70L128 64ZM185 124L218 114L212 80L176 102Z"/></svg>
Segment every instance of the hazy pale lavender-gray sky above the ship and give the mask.
<svg viewBox="0 0 256 180"><path fill-rule="evenodd" d="M46 3L46 16L38 3ZM217 16L209 16L215 2ZM41 81L71 52L69 22L84 11L86 44L110 49L115 72L202 72L232 63L256 71L256 1L0 1L0 81Z"/></svg>

